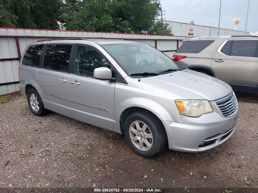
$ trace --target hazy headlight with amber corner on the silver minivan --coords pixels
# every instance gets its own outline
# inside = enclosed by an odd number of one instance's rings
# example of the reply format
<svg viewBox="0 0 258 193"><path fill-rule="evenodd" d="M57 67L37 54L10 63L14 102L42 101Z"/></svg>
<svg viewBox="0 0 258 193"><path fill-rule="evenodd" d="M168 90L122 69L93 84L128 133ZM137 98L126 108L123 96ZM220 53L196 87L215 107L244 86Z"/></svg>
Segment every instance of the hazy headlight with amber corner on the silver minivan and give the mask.
<svg viewBox="0 0 258 193"><path fill-rule="evenodd" d="M175 100L175 102L181 115L198 117L213 112L207 100Z"/></svg>

